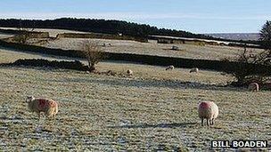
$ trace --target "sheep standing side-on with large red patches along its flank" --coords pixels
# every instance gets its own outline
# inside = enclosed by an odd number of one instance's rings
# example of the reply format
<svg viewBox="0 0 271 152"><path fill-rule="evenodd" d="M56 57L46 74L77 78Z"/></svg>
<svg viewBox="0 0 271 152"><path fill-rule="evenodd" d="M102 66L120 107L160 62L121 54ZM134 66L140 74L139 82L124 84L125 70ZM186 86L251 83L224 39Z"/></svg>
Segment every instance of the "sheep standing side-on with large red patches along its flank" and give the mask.
<svg viewBox="0 0 271 152"><path fill-rule="evenodd" d="M26 102L29 110L36 112L40 118L40 112L44 112L46 116L53 117L58 112L58 104L55 100L36 99L33 96L28 96Z"/></svg>

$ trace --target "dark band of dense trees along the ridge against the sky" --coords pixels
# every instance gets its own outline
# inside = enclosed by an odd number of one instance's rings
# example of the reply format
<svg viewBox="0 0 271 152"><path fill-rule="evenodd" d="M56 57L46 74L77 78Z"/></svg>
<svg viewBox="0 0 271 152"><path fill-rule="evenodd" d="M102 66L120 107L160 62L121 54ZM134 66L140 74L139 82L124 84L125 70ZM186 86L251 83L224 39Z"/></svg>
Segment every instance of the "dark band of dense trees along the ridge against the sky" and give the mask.
<svg viewBox="0 0 271 152"><path fill-rule="evenodd" d="M190 38L212 39L211 36L193 34L183 30L156 28L150 25L137 24L122 20L95 20L61 18L55 20L18 20L0 19L0 27L9 28L59 28L72 29L84 32L95 32L104 34L123 34L127 36L182 36Z"/></svg>

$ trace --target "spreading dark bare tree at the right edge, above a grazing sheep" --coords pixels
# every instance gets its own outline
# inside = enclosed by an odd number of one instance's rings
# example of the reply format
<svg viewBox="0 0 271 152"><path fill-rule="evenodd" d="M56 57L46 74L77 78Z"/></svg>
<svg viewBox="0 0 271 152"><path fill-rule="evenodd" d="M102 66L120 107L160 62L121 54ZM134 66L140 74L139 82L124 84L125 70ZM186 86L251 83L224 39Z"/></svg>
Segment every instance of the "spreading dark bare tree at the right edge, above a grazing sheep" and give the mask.
<svg viewBox="0 0 271 152"><path fill-rule="evenodd" d="M236 85L250 84L251 81L264 84L269 80L271 64L270 53L267 50L259 53L249 52L244 45L243 51L236 54L234 58L223 60L228 65L235 62L233 66L224 67L223 71L236 78L237 82L234 83Z"/></svg>

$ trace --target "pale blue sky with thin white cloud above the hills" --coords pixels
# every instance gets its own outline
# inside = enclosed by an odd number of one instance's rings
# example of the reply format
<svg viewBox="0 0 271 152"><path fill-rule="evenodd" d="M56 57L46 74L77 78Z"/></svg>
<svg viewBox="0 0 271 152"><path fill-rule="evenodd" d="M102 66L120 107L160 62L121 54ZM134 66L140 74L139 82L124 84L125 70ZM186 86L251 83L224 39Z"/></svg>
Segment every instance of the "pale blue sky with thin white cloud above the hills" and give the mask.
<svg viewBox="0 0 271 152"><path fill-rule="evenodd" d="M126 20L193 33L256 33L271 0L1 0L1 19Z"/></svg>

